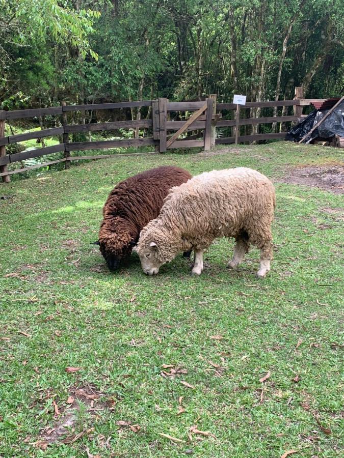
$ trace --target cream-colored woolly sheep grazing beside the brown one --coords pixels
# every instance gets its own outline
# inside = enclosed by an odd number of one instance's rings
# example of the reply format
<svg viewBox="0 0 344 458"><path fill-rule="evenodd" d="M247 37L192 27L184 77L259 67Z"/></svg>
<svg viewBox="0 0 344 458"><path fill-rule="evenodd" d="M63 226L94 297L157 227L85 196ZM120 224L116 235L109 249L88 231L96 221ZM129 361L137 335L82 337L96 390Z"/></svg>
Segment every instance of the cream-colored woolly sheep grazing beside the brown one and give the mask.
<svg viewBox="0 0 344 458"><path fill-rule="evenodd" d="M270 270L271 223L275 188L258 171L239 167L213 170L173 187L160 215L140 234L136 251L143 271L156 275L159 268L181 251L194 249L193 275L203 270L203 251L218 237L236 240L229 268L236 269L250 244L260 248L258 277Z"/></svg>

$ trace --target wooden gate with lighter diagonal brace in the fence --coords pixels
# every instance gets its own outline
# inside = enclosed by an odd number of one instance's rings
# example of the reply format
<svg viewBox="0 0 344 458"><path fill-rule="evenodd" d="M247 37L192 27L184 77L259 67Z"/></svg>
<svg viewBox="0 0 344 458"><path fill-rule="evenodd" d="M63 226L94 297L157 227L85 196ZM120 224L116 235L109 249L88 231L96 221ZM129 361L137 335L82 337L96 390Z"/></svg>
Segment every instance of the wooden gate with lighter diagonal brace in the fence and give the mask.
<svg viewBox="0 0 344 458"><path fill-rule="evenodd" d="M194 111L184 121L169 121L170 111ZM164 153L170 148L202 147L205 151L215 145L215 128L219 115L216 115L216 95L203 102L169 102L165 98L152 101L153 138L158 140L156 150ZM175 130L174 134L168 132ZM194 135L178 140L188 131L198 131ZM203 133L201 133L203 131Z"/></svg>

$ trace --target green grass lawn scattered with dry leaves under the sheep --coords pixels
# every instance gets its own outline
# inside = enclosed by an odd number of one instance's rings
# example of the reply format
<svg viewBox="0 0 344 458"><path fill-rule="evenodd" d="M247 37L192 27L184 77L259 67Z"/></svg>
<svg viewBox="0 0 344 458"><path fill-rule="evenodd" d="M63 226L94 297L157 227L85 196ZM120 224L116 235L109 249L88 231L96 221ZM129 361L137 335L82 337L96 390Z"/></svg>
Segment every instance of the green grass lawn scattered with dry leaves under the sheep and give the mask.
<svg viewBox="0 0 344 458"><path fill-rule="evenodd" d="M343 196L281 182L290 167L340 157L276 142L0 184L13 195L0 200L0 456L341 456ZM162 164L250 166L273 179L266 279L255 278L256 249L227 270L226 239L197 278L181 255L157 277L136 254L118 273L105 268L89 245L105 198Z"/></svg>

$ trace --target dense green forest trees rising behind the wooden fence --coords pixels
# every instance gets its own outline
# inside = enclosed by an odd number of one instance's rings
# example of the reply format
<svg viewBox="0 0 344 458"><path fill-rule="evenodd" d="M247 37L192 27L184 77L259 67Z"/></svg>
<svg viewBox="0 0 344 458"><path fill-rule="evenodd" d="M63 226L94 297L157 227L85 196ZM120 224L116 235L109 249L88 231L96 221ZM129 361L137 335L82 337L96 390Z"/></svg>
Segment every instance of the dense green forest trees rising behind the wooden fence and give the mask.
<svg viewBox="0 0 344 458"><path fill-rule="evenodd" d="M5 108L338 95L342 0L0 0Z"/></svg>

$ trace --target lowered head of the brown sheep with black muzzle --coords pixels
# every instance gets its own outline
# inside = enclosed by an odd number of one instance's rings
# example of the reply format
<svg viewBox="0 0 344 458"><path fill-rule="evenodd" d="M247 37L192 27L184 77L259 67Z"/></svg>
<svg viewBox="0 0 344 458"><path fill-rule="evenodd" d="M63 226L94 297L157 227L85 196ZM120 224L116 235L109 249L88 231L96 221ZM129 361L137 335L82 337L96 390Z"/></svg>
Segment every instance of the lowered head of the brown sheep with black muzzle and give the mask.
<svg viewBox="0 0 344 458"><path fill-rule="evenodd" d="M128 257L136 242L128 234L115 232L102 233L94 245L99 245L100 252L106 261L109 270L117 270L123 258Z"/></svg>

